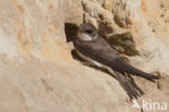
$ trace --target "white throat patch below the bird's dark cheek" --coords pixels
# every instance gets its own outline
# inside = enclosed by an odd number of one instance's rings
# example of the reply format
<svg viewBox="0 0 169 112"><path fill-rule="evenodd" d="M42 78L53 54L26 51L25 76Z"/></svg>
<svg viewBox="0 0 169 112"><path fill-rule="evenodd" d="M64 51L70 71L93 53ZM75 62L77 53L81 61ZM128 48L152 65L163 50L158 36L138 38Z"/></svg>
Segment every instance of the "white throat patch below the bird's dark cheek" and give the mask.
<svg viewBox="0 0 169 112"><path fill-rule="evenodd" d="M77 36L78 36L78 38L80 38L81 40L84 40L84 41L91 41L91 40L98 38L98 35L95 35L94 37L91 37L91 36L89 36L88 34L84 34L84 33L78 33Z"/></svg>

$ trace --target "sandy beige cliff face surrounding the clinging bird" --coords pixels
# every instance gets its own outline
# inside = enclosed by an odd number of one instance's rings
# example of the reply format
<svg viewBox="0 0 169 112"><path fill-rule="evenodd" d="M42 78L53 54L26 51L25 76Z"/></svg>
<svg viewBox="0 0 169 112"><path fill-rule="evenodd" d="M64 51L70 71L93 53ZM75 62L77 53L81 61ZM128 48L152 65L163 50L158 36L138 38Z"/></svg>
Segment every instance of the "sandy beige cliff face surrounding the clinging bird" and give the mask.
<svg viewBox="0 0 169 112"><path fill-rule="evenodd" d="M0 0L0 111L140 112L116 79L73 59L65 23L83 21L133 65L161 75L158 85L134 77L140 103L169 104L167 0Z"/></svg>

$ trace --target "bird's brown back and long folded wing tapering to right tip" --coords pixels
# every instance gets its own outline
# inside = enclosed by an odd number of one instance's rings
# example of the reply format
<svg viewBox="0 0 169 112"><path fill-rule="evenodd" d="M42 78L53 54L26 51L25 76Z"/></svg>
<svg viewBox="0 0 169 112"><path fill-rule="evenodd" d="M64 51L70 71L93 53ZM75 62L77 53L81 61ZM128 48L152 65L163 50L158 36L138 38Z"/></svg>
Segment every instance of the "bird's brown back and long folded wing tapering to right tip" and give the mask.
<svg viewBox="0 0 169 112"><path fill-rule="evenodd" d="M114 71L118 71L119 73L138 75L148 80L159 78L158 76L147 74L130 65L102 37L99 37L92 41L82 41L80 39L76 39L74 45L75 48L86 57L89 57L104 65L110 66Z"/></svg>

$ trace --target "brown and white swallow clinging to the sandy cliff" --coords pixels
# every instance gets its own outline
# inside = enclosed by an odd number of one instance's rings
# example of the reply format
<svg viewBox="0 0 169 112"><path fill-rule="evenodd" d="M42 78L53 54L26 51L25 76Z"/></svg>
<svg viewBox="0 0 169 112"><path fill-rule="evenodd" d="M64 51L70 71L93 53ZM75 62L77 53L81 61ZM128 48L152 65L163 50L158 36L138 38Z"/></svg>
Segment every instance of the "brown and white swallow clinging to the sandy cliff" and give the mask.
<svg viewBox="0 0 169 112"><path fill-rule="evenodd" d="M133 86L131 79L126 74L131 74L155 82L158 76L145 73L120 57L106 40L99 34L96 27L90 23L82 23L77 30L74 47L77 54L84 61L93 65L105 69L119 82L121 87L127 91L130 99L142 96L139 88Z"/></svg>

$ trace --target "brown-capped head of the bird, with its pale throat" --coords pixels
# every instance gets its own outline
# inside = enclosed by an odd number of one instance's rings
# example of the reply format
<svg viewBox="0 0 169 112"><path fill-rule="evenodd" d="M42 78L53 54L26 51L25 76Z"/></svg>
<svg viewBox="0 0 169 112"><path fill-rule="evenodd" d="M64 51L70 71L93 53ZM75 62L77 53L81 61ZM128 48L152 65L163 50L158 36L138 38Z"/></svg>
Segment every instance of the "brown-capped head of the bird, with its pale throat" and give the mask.
<svg viewBox="0 0 169 112"><path fill-rule="evenodd" d="M84 41L91 41L98 38L98 30L95 26L89 23L82 23L78 28L77 37Z"/></svg>

